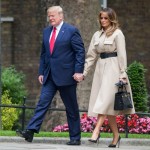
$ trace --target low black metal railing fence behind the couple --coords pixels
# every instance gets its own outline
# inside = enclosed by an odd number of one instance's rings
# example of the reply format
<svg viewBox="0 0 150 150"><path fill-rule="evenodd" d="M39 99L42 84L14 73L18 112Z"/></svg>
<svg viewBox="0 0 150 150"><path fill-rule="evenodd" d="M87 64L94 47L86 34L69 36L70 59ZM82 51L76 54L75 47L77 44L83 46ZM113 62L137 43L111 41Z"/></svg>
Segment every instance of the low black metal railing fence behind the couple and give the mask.
<svg viewBox="0 0 150 150"><path fill-rule="evenodd" d="M32 106L26 106L26 98L23 98L23 104L22 106L18 106L18 105L5 105L5 104L0 104L0 108L1 107L7 107L7 108L19 108L22 109L22 123L21 123L21 128L22 130L24 130L25 127L25 116L26 116L26 109L35 109L36 107L32 107ZM66 111L65 109L61 109L61 108L49 108L49 110L51 111ZM87 112L87 110L79 110L79 112ZM146 115L146 116L150 116L150 113L142 113L142 112L136 112L137 115ZM128 115L125 115L125 137L128 138Z"/></svg>

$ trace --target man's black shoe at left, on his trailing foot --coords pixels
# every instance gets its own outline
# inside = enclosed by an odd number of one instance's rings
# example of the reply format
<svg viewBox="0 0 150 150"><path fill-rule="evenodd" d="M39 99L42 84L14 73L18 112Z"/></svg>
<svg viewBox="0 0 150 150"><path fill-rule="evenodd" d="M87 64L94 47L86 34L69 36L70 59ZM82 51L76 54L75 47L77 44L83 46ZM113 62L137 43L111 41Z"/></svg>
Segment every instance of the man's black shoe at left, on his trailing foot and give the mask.
<svg viewBox="0 0 150 150"><path fill-rule="evenodd" d="M16 130L16 133L18 136L25 138L25 140L28 142L32 142L33 140L34 132L31 130L24 130L24 131Z"/></svg>

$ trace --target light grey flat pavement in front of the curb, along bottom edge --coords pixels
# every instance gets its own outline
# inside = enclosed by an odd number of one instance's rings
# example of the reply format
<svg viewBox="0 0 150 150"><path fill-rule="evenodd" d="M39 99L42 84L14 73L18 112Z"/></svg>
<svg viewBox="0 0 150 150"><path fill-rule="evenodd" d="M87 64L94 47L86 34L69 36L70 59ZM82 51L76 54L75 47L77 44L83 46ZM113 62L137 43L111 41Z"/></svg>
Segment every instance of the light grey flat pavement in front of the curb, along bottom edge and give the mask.
<svg viewBox="0 0 150 150"><path fill-rule="evenodd" d="M115 150L108 148L106 145L95 146L82 144L80 146L68 146L62 144L45 144L45 143L0 143L0 150ZM150 150L149 146L122 146L120 150Z"/></svg>

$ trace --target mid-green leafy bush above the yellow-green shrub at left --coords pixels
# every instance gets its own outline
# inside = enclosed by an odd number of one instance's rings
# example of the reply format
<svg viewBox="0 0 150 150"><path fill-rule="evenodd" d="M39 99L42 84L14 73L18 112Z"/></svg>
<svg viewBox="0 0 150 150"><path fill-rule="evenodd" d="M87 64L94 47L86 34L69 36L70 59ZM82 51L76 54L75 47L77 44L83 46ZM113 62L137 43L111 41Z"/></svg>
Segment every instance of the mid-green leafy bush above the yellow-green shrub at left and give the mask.
<svg viewBox="0 0 150 150"><path fill-rule="evenodd" d="M13 104L22 103L23 97L27 95L24 80L25 75L17 72L13 66L2 69L2 93L9 91Z"/></svg>

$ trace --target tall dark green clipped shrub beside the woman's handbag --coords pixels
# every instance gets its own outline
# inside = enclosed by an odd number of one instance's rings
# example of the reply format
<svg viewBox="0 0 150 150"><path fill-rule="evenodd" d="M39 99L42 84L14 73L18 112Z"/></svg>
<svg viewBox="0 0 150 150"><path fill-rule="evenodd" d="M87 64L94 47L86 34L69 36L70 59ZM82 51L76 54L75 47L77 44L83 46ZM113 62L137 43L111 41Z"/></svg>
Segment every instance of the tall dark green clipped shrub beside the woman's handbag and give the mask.
<svg viewBox="0 0 150 150"><path fill-rule="evenodd" d="M146 69L140 62L134 61L128 67L128 76L133 93L133 101L136 112L147 112L148 92L146 88Z"/></svg>

